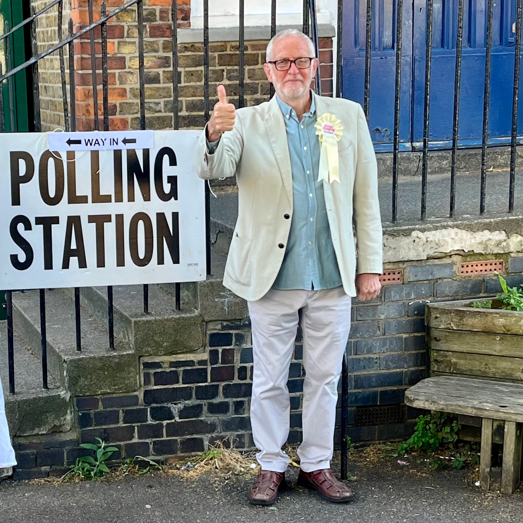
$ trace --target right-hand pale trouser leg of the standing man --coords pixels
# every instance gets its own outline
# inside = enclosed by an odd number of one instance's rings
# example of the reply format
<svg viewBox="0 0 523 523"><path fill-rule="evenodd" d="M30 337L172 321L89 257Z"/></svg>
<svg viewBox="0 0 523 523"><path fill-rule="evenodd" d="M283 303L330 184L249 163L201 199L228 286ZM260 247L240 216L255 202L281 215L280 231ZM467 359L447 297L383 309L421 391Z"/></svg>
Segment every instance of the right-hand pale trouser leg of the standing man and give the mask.
<svg viewBox="0 0 523 523"><path fill-rule="evenodd" d="M328 469L334 450L337 385L350 330L350 297L342 287L309 291L302 310L303 441L301 469Z"/></svg>

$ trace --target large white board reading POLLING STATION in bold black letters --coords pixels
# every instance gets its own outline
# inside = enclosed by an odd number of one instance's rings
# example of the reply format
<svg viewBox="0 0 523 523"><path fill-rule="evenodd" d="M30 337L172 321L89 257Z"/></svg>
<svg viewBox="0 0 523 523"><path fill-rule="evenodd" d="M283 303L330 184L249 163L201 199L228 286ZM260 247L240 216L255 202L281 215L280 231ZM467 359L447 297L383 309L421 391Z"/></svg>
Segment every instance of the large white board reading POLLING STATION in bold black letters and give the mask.
<svg viewBox="0 0 523 523"><path fill-rule="evenodd" d="M205 279L199 133L2 135L0 289Z"/></svg>

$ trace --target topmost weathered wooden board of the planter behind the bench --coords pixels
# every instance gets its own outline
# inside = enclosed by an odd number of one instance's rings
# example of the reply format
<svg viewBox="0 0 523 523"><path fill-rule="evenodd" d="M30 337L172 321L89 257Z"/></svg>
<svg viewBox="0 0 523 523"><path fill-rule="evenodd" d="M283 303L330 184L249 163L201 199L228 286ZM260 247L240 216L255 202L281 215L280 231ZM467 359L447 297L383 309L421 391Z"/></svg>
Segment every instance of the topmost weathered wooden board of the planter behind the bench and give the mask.
<svg viewBox="0 0 523 523"><path fill-rule="evenodd" d="M431 303L425 323L431 328L523 335L523 312L463 306L471 301Z"/></svg>

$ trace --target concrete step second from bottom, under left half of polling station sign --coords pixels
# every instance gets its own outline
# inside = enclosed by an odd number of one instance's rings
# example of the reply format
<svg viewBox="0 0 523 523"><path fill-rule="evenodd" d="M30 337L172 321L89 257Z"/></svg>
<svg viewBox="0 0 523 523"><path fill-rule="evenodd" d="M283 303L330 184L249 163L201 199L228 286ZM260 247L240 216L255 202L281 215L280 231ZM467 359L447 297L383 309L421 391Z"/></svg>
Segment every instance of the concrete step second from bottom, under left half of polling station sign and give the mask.
<svg viewBox="0 0 523 523"><path fill-rule="evenodd" d="M13 293L13 324L40 358L39 291ZM46 290L46 326L49 371L64 390L85 396L138 389L138 357L119 339L110 350L107 328L83 307L82 351L76 350L74 302L60 289Z"/></svg>

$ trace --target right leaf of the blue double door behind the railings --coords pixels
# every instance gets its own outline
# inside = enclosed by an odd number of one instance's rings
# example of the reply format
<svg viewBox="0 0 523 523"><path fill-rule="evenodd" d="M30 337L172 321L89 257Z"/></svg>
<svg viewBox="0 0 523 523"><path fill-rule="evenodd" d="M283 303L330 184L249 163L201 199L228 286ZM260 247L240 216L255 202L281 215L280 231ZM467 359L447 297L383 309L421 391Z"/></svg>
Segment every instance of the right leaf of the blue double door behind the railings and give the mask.
<svg viewBox="0 0 523 523"><path fill-rule="evenodd" d="M463 6L458 136L460 145L466 147L481 144L482 138L487 0L464 0ZM434 142L431 145L437 148L450 146L452 140L457 21L458 0L434 0L429 140ZM489 142L493 144L510 141L515 21L516 0L501 0L494 3L488 117L488 137ZM414 0L412 139L415 148L420 148L423 140L426 34L426 1ZM522 126L521 105L520 103L519 134Z"/></svg>

